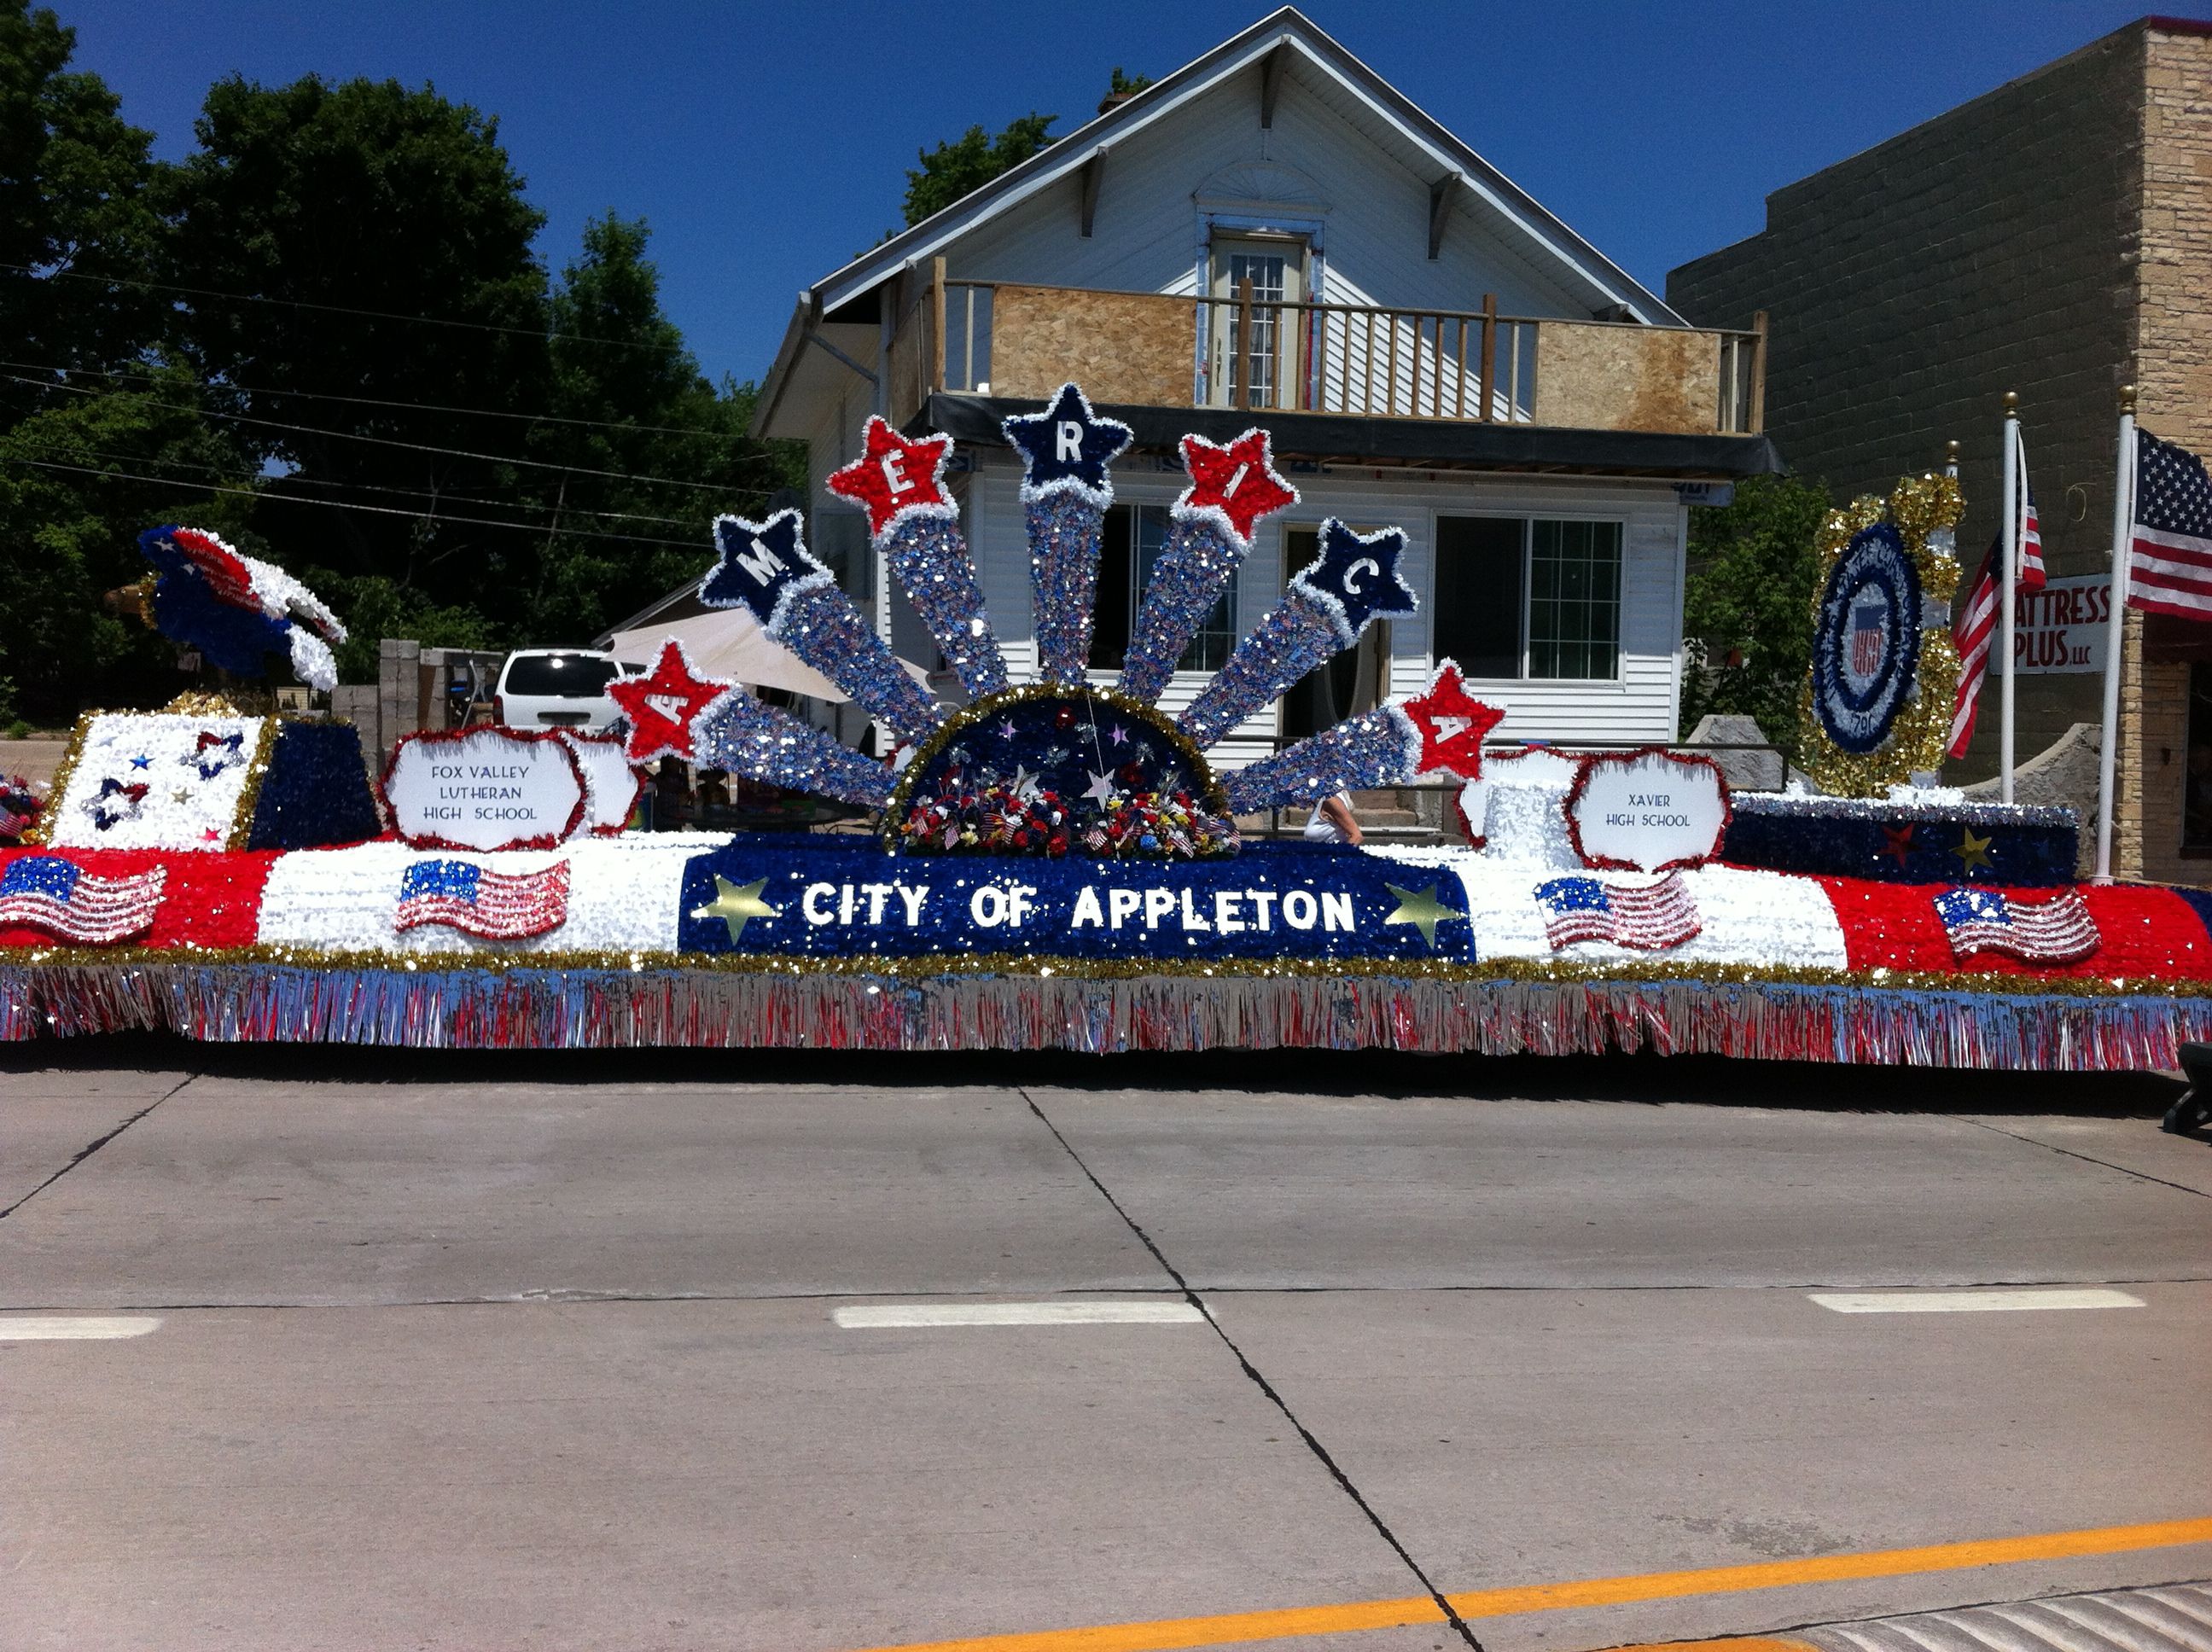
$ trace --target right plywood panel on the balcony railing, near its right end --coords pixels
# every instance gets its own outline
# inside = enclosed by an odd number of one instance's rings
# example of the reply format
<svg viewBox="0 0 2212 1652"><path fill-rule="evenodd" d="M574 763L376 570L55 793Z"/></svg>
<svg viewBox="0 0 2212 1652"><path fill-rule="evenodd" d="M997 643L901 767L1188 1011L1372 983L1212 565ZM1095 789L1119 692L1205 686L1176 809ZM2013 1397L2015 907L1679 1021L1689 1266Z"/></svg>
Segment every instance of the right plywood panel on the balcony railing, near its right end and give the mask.
<svg viewBox="0 0 2212 1652"><path fill-rule="evenodd" d="M1705 433L1719 422L1721 338L1677 327L1537 325L1535 422Z"/></svg>

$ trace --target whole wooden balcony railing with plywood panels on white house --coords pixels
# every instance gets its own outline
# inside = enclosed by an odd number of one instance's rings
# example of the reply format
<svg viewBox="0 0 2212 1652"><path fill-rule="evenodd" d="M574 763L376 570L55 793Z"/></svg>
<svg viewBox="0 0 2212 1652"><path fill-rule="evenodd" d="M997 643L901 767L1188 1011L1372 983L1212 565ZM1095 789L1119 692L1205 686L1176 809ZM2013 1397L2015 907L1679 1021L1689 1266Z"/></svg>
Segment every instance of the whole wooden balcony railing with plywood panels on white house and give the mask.
<svg viewBox="0 0 2212 1652"><path fill-rule="evenodd" d="M1232 296L951 281L936 261L891 336L894 416L931 391L1095 402L1754 436L1750 332Z"/></svg>

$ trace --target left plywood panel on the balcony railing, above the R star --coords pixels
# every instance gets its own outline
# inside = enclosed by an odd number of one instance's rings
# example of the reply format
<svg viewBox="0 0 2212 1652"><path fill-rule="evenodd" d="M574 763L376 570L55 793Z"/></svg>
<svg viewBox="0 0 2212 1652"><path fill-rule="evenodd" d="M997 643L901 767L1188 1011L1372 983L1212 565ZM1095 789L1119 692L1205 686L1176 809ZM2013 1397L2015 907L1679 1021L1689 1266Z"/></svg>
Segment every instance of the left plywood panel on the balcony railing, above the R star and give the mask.
<svg viewBox="0 0 2212 1652"><path fill-rule="evenodd" d="M993 294L993 396L1044 400L1073 378L1095 402L1188 407L1190 374L1188 299L1020 285Z"/></svg>

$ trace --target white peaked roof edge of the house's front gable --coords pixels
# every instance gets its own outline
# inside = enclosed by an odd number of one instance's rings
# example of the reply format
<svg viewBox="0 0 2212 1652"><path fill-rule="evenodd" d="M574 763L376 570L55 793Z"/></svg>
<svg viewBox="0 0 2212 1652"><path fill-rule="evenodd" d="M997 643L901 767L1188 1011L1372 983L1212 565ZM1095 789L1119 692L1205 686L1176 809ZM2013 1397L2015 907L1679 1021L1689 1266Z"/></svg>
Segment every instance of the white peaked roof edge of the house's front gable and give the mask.
<svg viewBox="0 0 2212 1652"><path fill-rule="evenodd" d="M863 252L845 268L823 276L805 294L803 307L816 316L836 316L838 310L867 296L878 283L922 259L936 257L947 243L967 234L978 223L1060 184L1099 150L1164 119L1223 80L1259 66L1274 51L1296 53L1298 60L1312 64L1358 104L1365 104L1411 155L1433 166L1431 181L1455 179L1455 188L1473 195L1491 217L1502 221L1509 234L1526 243L1526 250L1540 263L1564 265L1566 272L1588 283L1593 292L1604 294L1606 303L1624 305L1637 321L1666 327L1688 325L1663 299L1575 234L1540 206L1533 195L1475 155L1442 122L1345 51L1296 7L1267 13L1243 33L1223 40L1201 57L1194 57L1141 93L1108 108L1097 119L1086 122L1048 148L1031 155L1020 166L1000 172L960 201L894 234L883 245Z"/></svg>

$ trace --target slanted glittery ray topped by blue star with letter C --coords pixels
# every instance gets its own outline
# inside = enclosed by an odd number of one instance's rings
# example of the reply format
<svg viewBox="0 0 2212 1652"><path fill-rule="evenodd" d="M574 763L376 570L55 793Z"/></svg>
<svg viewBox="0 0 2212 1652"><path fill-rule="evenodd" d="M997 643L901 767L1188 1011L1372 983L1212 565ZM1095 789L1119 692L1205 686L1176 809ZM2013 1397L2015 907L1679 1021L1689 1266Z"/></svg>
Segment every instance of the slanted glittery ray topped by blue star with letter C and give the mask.
<svg viewBox="0 0 2212 1652"><path fill-rule="evenodd" d="M1369 621L1413 615L1420 602L1398 577L1400 555L1398 529L1360 537L1336 517L1323 522L1321 555L1292 575L1283 599L1199 690L1181 730L1201 747L1214 745L1305 672L1352 648Z"/></svg>

